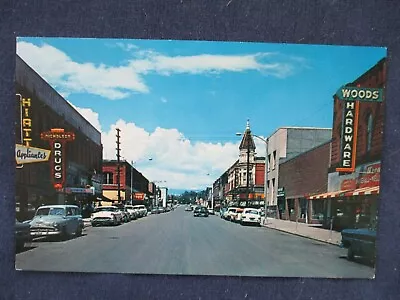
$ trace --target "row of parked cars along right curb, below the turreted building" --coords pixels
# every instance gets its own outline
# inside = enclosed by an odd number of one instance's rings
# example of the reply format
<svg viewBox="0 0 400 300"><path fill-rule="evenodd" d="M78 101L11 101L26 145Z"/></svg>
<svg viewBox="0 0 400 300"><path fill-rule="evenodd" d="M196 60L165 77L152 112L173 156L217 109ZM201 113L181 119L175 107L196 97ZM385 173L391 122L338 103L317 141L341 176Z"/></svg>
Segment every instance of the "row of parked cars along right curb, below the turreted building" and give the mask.
<svg viewBox="0 0 400 300"><path fill-rule="evenodd" d="M240 223L241 225L253 224L261 226L261 217L263 214L260 209L250 207L228 207L220 210L222 219Z"/></svg>

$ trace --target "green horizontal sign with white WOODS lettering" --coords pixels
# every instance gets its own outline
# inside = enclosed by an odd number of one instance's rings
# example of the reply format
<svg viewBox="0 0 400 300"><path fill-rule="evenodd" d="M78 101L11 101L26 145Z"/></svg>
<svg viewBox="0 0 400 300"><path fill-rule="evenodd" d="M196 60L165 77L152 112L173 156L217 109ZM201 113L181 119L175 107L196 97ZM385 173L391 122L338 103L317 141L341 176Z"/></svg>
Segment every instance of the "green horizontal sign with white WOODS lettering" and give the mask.
<svg viewBox="0 0 400 300"><path fill-rule="evenodd" d="M341 87L336 96L344 101L382 102L383 89L364 87Z"/></svg>

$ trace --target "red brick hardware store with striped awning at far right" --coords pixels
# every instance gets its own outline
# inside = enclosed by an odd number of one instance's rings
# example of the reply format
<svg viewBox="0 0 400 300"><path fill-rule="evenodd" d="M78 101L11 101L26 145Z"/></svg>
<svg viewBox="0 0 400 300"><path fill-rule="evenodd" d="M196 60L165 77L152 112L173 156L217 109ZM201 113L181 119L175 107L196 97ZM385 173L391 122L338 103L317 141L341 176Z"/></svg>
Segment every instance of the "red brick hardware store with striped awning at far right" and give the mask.
<svg viewBox="0 0 400 300"><path fill-rule="evenodd" d="M345 86L384 90L385 83L386 59L383 58ZM334 117L328 191L310 196L309 199L313 203L323 203L321 206L326 207L326 219L333 220L333 227L341 230L348 227L366 226L377 215L384 101L359 101L355 169L352 172L337 172L336 168L340 165L342 155L344 102L336 94L333 98Z"/></svg>

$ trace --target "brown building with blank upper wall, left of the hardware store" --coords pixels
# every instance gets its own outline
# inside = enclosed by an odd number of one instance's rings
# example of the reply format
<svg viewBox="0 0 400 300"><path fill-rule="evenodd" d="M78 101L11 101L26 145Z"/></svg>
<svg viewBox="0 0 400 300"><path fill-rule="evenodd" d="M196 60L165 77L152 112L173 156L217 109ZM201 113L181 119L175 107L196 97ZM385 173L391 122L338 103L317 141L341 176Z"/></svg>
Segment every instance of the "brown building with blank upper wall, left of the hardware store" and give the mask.
<svg viewBox="0 0 400 300"><path fill-rule="evenodd" d="M279 207L281 219L322 222L323 207L319 203L313 207L307 196L327 191L329 153L330 141L280 164L278 193L284 199Z"/></svg>

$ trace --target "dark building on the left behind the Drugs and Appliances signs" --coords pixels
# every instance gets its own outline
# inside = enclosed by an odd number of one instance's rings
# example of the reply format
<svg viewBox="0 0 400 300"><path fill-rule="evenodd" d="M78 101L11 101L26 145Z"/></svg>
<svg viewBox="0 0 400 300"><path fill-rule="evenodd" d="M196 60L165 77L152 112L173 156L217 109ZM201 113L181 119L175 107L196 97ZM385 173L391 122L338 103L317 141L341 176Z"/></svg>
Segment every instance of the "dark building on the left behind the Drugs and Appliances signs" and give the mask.
<svg viewBox="0 0 400 300"><path fill-rule="evenodd" d="M16 213L31 218L42 204L77 204L84 208L101 197L101 134L18 55L16 60L16 144L51 150L42 133L52 129L74 135L65 143L59 164L47 161L17 165ZM16 151L16 158L18 156ZM54 169L60 170L56 174ZM61 172L62 170L62 172ZM61 176L63 183L55 185Z"/></svg>

